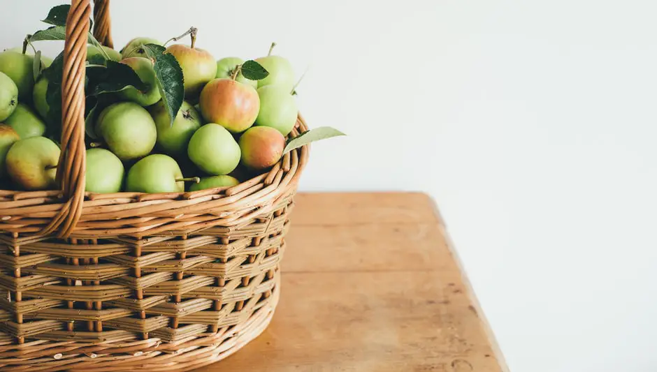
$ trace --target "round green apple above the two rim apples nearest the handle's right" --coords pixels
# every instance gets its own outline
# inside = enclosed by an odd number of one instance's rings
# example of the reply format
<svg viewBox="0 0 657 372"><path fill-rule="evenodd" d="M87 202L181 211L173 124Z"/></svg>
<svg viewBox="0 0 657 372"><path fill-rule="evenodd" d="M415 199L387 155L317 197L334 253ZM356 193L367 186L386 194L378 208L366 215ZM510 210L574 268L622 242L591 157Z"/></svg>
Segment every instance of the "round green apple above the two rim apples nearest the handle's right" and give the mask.
<svg viewBox="0 0 657 372"><path fill-rule="evenodd" d="M155 122L144 107L133 102L106 107L96 121L96 134L122 161L141 158L155 147Z"/></svg>

